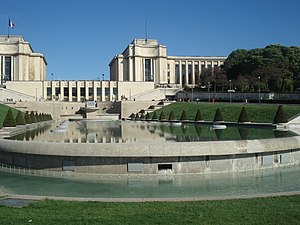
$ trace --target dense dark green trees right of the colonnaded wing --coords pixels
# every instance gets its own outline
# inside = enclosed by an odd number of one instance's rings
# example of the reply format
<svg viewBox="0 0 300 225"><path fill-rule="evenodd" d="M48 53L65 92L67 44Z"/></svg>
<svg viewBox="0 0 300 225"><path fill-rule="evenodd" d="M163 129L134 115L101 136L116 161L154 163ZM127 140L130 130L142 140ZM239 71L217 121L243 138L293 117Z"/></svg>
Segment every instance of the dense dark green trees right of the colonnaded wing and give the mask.
<svg viewBox="0 0 300 225"><path fill-rule="evenodd" d="M237 49L221 67L202 70L198 88L240 92L293 92L300 88L300 47L277 44Z"/></svg>

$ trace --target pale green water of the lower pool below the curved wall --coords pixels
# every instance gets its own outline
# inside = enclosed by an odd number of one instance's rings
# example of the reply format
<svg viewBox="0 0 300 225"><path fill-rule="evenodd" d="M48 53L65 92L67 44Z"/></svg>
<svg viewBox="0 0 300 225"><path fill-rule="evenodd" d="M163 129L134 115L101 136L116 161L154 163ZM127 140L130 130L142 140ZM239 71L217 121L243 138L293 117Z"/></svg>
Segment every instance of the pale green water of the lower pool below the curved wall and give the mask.
<svg viewBox="0 0 300 225"><path fill-rule="evenodd" d="M0 195L86 198L194 198L300 191L300 167L184 176L103 176L72 180L0 172Z"/></svg>

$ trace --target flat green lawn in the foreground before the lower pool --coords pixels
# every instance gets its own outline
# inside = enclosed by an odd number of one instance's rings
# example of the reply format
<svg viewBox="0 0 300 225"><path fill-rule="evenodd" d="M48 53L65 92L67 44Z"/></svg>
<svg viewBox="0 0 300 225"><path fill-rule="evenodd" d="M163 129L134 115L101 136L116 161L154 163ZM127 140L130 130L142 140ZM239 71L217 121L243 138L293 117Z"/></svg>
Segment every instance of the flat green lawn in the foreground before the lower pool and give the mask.
<svg viewBox="0 0 300 225"><path fill-rule="evenodd" d="M30 221L30 222L29 222ZM69 202L0 206L9 224L300 224L300 195L197 202Z"/></svg>

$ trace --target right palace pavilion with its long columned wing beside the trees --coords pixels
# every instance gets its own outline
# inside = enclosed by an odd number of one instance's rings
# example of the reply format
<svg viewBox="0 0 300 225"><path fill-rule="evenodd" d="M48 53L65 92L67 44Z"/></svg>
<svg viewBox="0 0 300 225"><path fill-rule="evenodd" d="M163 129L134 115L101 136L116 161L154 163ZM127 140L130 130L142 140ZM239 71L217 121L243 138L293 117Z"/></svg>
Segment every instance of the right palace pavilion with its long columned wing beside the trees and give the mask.
<svg viewBox="0 0 300 225"><path fill-rule="evenodd" d="M110 62L114 81L154 82L182 88L199 83L203 69L224 64L222 56L167 56L167 47L157 40L134 39Z"/></svg>

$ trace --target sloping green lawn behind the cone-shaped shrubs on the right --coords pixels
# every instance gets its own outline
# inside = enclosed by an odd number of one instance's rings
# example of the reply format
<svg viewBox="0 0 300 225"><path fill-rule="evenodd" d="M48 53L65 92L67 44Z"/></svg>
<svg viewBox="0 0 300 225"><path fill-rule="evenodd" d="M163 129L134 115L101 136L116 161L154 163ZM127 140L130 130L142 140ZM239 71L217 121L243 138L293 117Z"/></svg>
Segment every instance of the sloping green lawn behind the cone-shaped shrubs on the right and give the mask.
<svg viewBox="0 0 300 225"><path fill-rule="evenodd" d="M156 113L160 115L160 112L163 111L168 116L173 111L176 118L179 119L182 111L185 110L188 119L194 120L197 110L200 109L203 120L213 121L217 108L220 108L224 121L237 122L243 106L247 110L250 121L258 123L272 123L278 108L278 105L275 104L176 102L156 110ZM300 113L300 106L285 105L284 112L287 118L292 118Z"/></svg>

